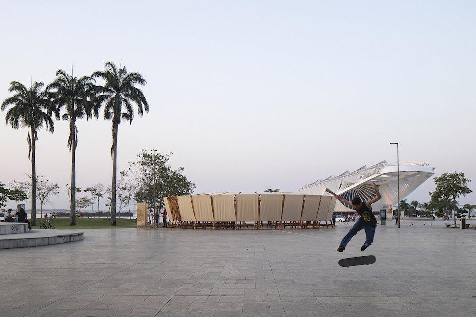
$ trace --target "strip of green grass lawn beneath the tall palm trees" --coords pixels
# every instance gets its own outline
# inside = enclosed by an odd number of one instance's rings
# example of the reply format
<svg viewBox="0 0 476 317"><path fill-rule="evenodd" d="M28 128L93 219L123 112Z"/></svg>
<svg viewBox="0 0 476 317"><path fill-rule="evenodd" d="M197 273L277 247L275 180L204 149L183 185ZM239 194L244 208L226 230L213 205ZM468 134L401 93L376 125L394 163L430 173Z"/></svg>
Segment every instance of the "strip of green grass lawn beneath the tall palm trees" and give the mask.
<svg viewBox="0 0 476 317"><path fill-rule="evenodd" d="M134 219L119 219L116 218L116 226L111 225L111 220L108 218L76 218L76 225L69 225L69 218L53 218L51 224L56 229L104 229L104 228L135 228L137 220ZM40 226L40 218L36 219L36 226L31 226L32 229L38 229Z"/></svg>

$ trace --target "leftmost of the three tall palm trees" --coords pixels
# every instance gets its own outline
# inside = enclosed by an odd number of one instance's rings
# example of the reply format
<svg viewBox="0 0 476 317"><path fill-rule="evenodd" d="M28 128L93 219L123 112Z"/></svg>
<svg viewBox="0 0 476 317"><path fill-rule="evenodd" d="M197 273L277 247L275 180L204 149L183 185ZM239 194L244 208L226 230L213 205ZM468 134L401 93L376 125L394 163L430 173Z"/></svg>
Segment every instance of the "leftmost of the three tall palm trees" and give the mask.
<svg viewBox="0 0 476 317"><path fill-rule="evenodd" d="M28 159L31 155L31 224L36 225L36 141L38 140L37 131L45 124L46 128L53 133L54 124L51 119L52 106L46 91L42 91L42 82L34 82L30 88L23 84L12 81L9 92L13 96L5 99L1 104L1 110L4 111L8 106L5 120L13 129L20 126L27 127L28 133Z"/></svg>

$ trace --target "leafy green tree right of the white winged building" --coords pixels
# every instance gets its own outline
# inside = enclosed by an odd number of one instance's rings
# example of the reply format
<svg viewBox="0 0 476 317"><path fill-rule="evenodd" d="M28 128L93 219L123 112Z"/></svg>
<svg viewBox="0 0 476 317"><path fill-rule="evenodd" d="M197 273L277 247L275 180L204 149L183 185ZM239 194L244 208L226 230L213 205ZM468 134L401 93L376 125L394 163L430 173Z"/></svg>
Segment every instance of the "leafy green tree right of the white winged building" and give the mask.
<svg viewBox="0 0 476 317"><path fill-rule="evenodd" d="M468 187L469 179L465 177L464 173L443 173L439 177L435 177L436 188L434 192L430 192L431 200L450 200L451 210L454 212L454 221L456 226L456 208L457 199L463 195L472 192Z"/></svg>

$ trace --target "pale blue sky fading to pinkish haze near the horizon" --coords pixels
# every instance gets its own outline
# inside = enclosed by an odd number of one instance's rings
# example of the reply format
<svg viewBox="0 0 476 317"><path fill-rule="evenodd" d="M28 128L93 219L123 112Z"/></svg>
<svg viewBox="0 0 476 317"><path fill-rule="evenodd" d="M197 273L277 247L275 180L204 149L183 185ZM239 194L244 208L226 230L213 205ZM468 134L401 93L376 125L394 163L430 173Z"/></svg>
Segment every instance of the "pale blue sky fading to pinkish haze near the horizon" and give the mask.
<svg viewBox="0 0 476 317"><path fill-rule="evenodd" d="M0 100L13 80L113 61L144 76L150 105L119 127L119 171L155 148L197 193L296 192L396 161L399 142L402 161L464 172L474 192L460 202L475 204L475 20L475 1L2 1ZM110 183L111 123L78 130L77 186ZM38 132L37 173L62 187L47 208L69 205L68 133ZM0 136L0 181L23 180L26 129L3 121Z"/></svg>

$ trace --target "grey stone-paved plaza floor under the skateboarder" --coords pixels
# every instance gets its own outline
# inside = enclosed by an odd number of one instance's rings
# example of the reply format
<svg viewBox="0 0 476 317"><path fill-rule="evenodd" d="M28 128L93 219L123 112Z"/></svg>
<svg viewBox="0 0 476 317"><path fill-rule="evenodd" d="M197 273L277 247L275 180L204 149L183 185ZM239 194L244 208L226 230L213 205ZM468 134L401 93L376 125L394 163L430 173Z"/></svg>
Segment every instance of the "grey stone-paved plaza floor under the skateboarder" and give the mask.
<svg viewBox="0 0 476 317"><path fill-rule="evenodd" d="M476 230L425 221L363 230L84 231L0 250L0 317L476 316ZM339 259L373 254L369 266Z"/></svg>

